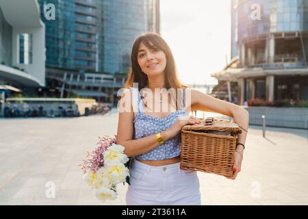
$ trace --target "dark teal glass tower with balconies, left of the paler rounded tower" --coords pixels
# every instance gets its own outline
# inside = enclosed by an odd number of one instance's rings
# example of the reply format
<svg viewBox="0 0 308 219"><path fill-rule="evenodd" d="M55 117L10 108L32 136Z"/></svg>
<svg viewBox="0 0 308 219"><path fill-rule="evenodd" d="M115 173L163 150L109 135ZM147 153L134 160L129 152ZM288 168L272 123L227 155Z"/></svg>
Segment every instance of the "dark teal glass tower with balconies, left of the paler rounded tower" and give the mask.
<svg viewBox="0 0 308 219"><path fill-rule="evenodd" d="M40 0L46 25L46 65L57 68L97 70L97 2ZM44 17L44 7L55 5L55 20Z"/></svg>

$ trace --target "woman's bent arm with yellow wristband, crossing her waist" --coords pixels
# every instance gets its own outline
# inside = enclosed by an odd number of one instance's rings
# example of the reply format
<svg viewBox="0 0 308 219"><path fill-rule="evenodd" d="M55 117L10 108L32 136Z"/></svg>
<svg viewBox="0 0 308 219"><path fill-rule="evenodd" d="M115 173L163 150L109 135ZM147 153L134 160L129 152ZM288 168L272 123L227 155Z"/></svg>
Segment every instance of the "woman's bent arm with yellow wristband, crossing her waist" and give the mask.
<svg viewBox="0 0 308 219"><path fill-rule="evenodd" d="M151 136L146 136L144 138L139 138L133 140L133 118L134 112L133 107L131 105L131 98L125 95L131 95L130 90L125 90L123 95L121 96L118 110L118 133L116 136L117 144L120 144L125 147L124 153L128 156L136 156L141 155L142 153L146 153L155 149L159 146L159 142L157 141L157 137L155 134ZM124 112L125 105L129 104L129 107L126 109L130 109L130 112ZM172 132L170 129L161 132L162 139L164 141L168 140L172 137Z"/></svg>

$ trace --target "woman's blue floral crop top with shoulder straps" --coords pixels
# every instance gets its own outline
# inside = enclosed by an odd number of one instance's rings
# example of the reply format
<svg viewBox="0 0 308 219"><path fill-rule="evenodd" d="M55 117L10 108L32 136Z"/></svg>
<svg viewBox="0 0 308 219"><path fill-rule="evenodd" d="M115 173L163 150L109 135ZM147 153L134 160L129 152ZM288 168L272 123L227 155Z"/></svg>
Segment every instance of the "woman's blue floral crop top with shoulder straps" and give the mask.
<svg viewBox="0 0 308 219"><path fill-rule="evenodd" d="M177 120L178 116L185 116L188 113L185 110L185 88L183 90L183 98L181 102L181 110L170 113L165 118L156 118L154 116L146 115L143 113L143 105L140 92L137 88L138 93L138 110L135 114L134 123L134 139L143 138L146 136L151 136L159 131L164 131L169 129ZM142 155L138 155L137 159L146 160L160 160L160 159L170 159L172 157L177 157L181 153L181 133L177 136L170 138L166 142L157 146L152 151L148 151Z"/></svg>

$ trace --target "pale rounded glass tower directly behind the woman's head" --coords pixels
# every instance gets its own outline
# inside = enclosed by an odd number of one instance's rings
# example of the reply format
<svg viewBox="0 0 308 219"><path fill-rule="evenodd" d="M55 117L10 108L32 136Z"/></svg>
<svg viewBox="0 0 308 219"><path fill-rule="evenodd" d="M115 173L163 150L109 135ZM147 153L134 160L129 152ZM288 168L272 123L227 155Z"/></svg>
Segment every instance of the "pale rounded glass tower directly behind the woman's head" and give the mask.
<svg viewBox="0 0 308 219"><path fill-rule="evenodd" d="M133 40L147 31L159 33L159 1L102 1L103 71L129 70ZM157 27L158 26L158 27Z"/></svg>

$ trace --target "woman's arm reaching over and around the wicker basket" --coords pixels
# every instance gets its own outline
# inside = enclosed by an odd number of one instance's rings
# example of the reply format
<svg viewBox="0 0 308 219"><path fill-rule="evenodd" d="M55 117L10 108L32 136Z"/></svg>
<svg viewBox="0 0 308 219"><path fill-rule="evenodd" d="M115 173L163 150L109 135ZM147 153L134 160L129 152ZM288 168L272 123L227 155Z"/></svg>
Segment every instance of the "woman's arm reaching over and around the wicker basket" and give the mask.
<svg viewBox="0 0 308 219"><path fill-rule="evenodd" d="M220 99L216 99L194 89L191 89L191 97L192 110L217 112L230 116L233 118L234 122L240 124L243 129L248 129L249 113L243 107L227 101L221 101ZM245 144L246 136L246 131L242 130L242 133L238 134L237 143ZM242 145L238 145L237 150L242 153L244 148Z"/></svg>

